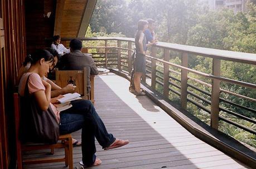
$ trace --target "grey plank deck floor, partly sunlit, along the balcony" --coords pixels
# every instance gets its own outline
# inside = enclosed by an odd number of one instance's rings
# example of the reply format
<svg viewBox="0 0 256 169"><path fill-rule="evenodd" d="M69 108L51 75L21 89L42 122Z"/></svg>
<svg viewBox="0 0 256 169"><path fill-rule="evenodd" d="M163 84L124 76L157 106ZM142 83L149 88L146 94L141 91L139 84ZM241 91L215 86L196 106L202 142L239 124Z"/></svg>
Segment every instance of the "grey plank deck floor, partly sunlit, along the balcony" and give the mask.
<svg viewBox="0 0 256 169"><path fill-rule="evenodd" d="M109 73L95 78L95 107L108 131L129 145L104 151L96 142L96 155L109 168L249 168L187 132L146 96L128 92L129 82ZM73 133L80 140L81 131ZM34 152L26 157L49 156ZM56 150L54 156L64 155ZM74 167L80 168L81 147L74 147ZM64 163L30 165L25 168L65 168Z"/></svg>

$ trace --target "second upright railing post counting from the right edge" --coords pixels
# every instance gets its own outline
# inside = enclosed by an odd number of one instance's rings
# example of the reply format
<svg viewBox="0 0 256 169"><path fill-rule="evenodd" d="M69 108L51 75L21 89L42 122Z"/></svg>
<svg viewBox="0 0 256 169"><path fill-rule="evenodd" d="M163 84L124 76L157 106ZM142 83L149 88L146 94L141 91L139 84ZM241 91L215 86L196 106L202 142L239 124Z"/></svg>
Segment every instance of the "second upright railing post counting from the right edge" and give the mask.
<svg viewBox="0 0 256 169"><path fill-rule="evenodd" d="M181 65L187 67L187 53L182 53ZM187 70L181 69L181 107L187 109Z"/></svg>

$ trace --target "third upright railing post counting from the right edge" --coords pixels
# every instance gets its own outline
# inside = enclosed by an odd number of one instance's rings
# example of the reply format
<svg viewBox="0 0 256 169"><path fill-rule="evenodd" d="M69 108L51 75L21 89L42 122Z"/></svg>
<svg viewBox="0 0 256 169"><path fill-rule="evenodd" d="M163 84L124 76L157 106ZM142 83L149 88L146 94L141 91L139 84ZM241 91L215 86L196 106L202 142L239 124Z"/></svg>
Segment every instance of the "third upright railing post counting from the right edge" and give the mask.
<svg viewBox="0 0 256 169"><path fill-rule="evenodd" d="M169 62L170 51L169 49L164 49L163 51L165 61ZM169 64L163 64L163 96L169 98Z"/></svg>

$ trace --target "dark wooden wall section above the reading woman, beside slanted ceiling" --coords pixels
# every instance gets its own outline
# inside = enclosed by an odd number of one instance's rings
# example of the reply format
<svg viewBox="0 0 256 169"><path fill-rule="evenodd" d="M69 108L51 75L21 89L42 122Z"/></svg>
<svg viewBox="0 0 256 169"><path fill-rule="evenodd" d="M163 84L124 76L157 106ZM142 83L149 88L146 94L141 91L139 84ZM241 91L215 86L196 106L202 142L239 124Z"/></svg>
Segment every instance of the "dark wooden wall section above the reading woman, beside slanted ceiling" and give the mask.
<svg viewBox="0 0 256 169"><path fill-rule="evenodd" d="M54 35L56 0L25 0L27 53L50 47ZM51 12L50 18L44 16Z"/></svg>

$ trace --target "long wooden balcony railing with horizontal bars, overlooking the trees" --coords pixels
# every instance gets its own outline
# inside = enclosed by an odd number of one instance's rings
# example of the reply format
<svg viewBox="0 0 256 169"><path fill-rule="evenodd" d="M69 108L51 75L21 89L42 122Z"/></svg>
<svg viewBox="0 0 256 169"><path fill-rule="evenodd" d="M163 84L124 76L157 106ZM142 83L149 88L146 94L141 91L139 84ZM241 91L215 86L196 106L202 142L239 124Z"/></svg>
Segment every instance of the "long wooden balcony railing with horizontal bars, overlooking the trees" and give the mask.
<svg viewBox="0 0 256 169"><path fill-rule="evenodd" d="M62 38L62 41L70 41L71 39L72 38ZM134 38L101 37L80 39L81 41L85 41L86 47L89 49L89 53L94 54L93 58L95 59L97 66L116 68L118 71L122 71L128 74L131 73L133 67L132 52L134 51ZM97 46L90 46L93 41L98 41ZM90 49L94 50L94 52L91 52ZM180 56L181 64L170 62L170 56L173 55L171 52L176 53L176 56ZM189 58L195 56L212 58L211 74L200 72L188 67ZM252 64L255 66L256 54L158 42L156 45L151 47L150 54L148 54L146 57L147 73L146 77L143 77L142 80L144 83L149 84L152 90L157 90L157 86L161 86L163 91L162 96L169 98L171 93L175 93L180 97L180 106L183 109L187 110L187 102L190 102L193 105L201 108L201 110L210 113L210 126L216 130L218 130L219 121L221 120L256 135L256 131L253 130L253 128L241 125L238 122L234 122L229 118L219 115L219 112L223 111L229 115L233 115L238 119L248 121L254 125L256 124L255 118L242 115L239 112L230 111L228 108L225 108L220 104L220 102L228 103L229 105L239 107L255 115L256 110L253 108L245 107L238 103L234 103L232 101L221 98L220 93L222 92L228 95L233 95L235 97L243 98L249 102L252 102L253 104L256 104L256 96L252 98L225 90L220 88L220 82L230 83L256 90L255 82L248 83L238 81L236 79L221 77L221 61L239 62ZM181 71L171 69L170 67L180 69ZM172 74L176 75L173 76ZM199 78L191 77L189 74L197 74L197 76L204 77L208 80L210 79L211 84L202 81ZM211 92L203 90L194 84L188 83L188 80L211 88ZM173 89L173 87L177 88L177 90ZM210 100L207 100L207 98L191 90L188 90L188 88L200 92L204 96L210 97ZM192 99L191 97L188 97L188 95L196 98L197 100L200 100L200 102ZM205 103L210 105L210 107L204 106Z"/></svg>

